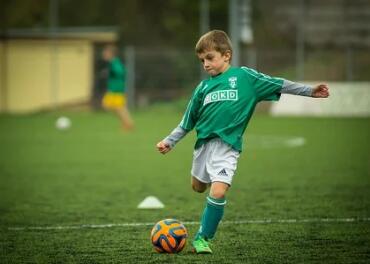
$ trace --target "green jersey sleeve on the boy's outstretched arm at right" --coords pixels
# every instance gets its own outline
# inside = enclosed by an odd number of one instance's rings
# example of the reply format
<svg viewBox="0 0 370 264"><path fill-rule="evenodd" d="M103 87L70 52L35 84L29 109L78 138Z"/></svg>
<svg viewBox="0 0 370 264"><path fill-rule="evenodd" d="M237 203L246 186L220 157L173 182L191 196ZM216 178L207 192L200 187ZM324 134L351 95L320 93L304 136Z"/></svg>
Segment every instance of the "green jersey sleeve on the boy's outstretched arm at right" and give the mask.
<svg viewBox="0 0 370 264"><path fill-rule="evenodd" d="M257 72L253 69L242 67L246 72L258 101L278 101L284 80Z"/></svg>

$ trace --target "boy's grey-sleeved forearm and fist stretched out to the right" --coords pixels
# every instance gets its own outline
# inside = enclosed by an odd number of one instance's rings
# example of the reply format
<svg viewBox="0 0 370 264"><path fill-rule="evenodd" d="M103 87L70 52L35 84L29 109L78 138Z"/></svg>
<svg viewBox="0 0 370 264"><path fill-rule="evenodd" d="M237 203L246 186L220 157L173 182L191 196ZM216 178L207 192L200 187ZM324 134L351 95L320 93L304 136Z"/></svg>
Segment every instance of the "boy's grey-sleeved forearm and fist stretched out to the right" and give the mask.
<svg viewBox="0 0 370 264"><path fill-rule="evenodd" d="M284 80L281 93L326 98L329 96L329 87L326 84L319 84L311 87L305 84Z"/></svg>

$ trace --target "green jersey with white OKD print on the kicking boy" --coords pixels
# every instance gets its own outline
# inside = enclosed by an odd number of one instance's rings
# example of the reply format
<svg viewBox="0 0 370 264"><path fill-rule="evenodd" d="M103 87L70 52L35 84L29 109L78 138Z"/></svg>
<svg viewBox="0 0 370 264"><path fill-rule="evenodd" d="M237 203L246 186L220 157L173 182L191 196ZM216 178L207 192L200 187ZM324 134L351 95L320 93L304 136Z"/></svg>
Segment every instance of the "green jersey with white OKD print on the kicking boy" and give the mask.
<svg viewBox="0 0 370 264"><path fill-rule="evenodd" d="M202 81L193 92L180 126L195 128L195 149L219 137L242 151L242 137L260 101L277 101L284 80L247 67L230 67Z"/></svg>

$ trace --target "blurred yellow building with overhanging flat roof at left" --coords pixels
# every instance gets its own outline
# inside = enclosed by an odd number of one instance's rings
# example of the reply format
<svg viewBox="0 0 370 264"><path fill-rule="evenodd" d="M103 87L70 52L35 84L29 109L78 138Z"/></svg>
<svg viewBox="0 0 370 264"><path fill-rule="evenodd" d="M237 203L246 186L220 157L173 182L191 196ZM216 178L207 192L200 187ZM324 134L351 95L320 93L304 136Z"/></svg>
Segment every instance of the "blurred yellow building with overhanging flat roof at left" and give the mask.
<svg viewBox="0 0 370 264"><path fill-rule="evenodd" d="M88 103L95 50L113 29L9 30L0 39L0 112L24 113Z"/></svg>

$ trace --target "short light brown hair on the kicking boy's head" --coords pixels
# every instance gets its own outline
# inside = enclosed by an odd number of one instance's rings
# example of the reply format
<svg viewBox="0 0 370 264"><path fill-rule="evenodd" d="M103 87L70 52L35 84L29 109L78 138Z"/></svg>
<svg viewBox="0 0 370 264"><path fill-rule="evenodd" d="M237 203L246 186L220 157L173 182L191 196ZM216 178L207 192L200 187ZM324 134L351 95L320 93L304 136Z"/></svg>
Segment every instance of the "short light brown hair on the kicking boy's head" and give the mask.
<svg viewBox="0 0 370 264"><path fill-rule="evenodd" d="M195 45L195 52L197 54L215 50L220 52L222 55L229 51L232 55L233 48L231 41L227 34L222 30L212 30L200 37L197 44ZM230 58L231 60L231 58Z"/></svg>

